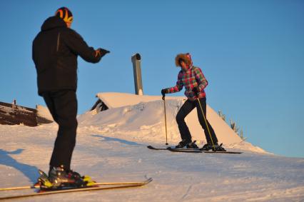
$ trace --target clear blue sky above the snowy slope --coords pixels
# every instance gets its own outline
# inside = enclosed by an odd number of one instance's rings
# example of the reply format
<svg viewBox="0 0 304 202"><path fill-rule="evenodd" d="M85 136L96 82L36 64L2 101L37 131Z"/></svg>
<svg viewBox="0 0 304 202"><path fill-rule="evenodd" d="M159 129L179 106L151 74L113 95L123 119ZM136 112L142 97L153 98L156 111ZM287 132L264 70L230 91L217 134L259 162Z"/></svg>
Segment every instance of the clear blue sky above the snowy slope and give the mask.
<svg viewBox="0 0 304 202"><path fill-rule="evenodd" d="M78 59L78 113L98 92L134 93L131 56L142 56L143 91L174 86L176 54L190 52L209 85L207 103L243 128L250 143L304 157L304 1L0 1L0 101L44 104L31 43L46 18L67 6L72 29L111 51ZM183 96L183 92L174 94Z"/></svg>

